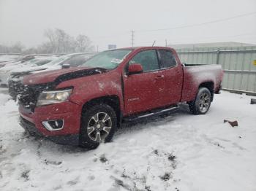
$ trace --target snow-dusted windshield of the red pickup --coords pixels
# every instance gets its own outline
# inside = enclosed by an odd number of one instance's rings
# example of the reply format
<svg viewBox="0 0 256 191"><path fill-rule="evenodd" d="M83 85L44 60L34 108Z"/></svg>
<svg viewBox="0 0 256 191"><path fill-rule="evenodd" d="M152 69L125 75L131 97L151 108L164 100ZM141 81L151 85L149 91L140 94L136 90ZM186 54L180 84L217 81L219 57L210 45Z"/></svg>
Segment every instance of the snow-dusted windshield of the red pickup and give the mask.
<svg viewBox="0 0 256 191"><path fill-rule="evenodd" d="M100 52L99 54L94 55L94 57L83 63L81 66L115 69L131 51L132 50L130 49L122 49Z"/></svg>

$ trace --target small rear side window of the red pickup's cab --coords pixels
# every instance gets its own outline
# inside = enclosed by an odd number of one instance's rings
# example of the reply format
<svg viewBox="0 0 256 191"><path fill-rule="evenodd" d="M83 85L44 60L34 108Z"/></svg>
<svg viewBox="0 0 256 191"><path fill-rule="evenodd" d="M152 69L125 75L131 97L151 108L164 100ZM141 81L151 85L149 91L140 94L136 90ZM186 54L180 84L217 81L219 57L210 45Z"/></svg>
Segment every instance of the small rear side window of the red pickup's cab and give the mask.
<svg viewBox="0 0 256 191"><path fill-rule="evenodd" d="M159 50L159 55L162 61L162 69L176 66L176 58L173 55L173 52L170 52L170 50Z"/></svg>

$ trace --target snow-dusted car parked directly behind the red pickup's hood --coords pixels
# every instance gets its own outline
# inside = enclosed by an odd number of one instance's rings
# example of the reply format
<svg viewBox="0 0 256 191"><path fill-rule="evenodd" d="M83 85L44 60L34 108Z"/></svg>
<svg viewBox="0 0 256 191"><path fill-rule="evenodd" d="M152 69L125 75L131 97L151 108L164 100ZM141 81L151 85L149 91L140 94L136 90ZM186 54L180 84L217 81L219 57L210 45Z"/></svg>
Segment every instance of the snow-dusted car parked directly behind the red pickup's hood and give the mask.
<svg viewBox="0 0 256 191"><path fill-rule="evenodd" d="M61 69L62 67L77 67L88 60L92 55L94 55L92 52L62 55L61 57L43 66L14 69L8 78L9 93L12 98L16 99L16 96L23 91L22 79L26 75L38 74L42 71Z"/></svg>

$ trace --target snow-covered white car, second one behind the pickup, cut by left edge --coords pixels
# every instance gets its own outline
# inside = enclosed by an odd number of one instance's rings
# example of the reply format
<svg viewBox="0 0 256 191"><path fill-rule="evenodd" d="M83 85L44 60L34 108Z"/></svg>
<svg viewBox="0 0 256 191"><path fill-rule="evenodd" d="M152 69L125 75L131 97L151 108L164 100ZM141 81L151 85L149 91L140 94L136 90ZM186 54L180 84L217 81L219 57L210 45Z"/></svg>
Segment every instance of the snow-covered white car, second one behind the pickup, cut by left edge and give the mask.
<svg viewBox="0 0 256 191"><path fill-rule="evenodd" d="M10 77L10 74L13 70L17 69L31 69L36 66L42 66L45 63L49 63L50 61L53 61L56 59L56 56L51 56L51 57L44 57L44 58L34 58L32 60L20 63L20 64L15 64L15 65L8 65L4 66L3 68L0 69L0 84L1 86L7 86L7 81L8 77Z"/></svg>

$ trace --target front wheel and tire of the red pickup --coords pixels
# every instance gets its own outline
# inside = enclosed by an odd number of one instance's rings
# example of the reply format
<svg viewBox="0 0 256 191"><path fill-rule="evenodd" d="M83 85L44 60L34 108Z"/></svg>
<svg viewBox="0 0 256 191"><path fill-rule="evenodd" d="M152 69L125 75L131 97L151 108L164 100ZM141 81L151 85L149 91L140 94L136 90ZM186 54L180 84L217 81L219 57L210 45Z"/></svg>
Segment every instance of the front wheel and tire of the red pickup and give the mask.
<svg viewBox="0 0 256 191"><path fill-rule="evenodd" d="M111 141L117 128L116 112L107 104L91 106L81 117L80 147L96 149Z"/></svg>

